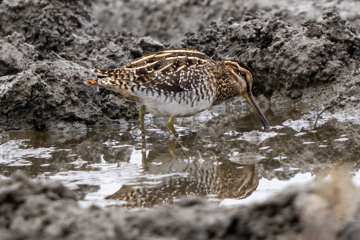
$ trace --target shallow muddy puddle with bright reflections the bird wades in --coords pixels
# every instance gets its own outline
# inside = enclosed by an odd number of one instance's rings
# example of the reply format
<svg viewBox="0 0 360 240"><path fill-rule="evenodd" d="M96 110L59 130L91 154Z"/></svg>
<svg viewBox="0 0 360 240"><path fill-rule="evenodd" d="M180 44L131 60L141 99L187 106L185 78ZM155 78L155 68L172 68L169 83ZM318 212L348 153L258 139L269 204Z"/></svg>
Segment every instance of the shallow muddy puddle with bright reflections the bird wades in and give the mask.
<svg viewBox="0 0 360 240"><path fill-rule="evenodd" d="M181 147L166 119L146 116L146 159L139 122L82 131L9 132L0 139L0 172L17 169L57 179L84 205L128 207L176 203L201 195L222 205L261 201L285 186L323 180L345 167L360 185L359 112L303 103L260 104L273 127L264 132L247 104L221 105L177 119Z"/></svg>

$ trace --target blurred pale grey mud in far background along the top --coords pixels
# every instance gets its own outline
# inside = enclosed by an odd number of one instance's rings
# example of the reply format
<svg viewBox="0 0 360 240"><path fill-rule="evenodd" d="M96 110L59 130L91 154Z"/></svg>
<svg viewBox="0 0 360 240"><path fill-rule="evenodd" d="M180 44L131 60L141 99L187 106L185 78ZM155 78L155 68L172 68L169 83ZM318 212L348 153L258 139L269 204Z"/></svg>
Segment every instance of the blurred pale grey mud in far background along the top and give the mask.
<svg viewBox="0 0 360 240"><path fill-rule="evenodd" d="M360 14L357 1L334 0L168 0L168 1L111 1L96 0L92 10L102 32L130 31L137 35L154 37L157 40L176 42L183 39L188 30L204 31L215 20L226 22L243 20L244 12L257 10L281 17L293 25L302 24L307 19L322 21L322 16L336 8L356 31L360 31Z"/></svg>

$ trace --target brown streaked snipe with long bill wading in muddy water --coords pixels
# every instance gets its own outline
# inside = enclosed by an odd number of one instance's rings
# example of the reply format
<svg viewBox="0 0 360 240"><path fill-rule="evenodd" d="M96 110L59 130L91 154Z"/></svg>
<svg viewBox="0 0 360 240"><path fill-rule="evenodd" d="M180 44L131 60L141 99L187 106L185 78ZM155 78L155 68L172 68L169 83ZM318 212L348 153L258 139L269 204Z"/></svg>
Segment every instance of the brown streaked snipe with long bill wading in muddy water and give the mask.
<svg viewBox="0 0 360 240"><path fill-rule="evenodd" d="M251 69L239 60L216 62L192 49L165 49L144 55L122 68L91 69L96 80L87 85L104 87L140 103L141 131L144 115L167 117L176 136L174 119L203 112L235 96L243 96L265 128L270 128L251 92Z"/></svg>

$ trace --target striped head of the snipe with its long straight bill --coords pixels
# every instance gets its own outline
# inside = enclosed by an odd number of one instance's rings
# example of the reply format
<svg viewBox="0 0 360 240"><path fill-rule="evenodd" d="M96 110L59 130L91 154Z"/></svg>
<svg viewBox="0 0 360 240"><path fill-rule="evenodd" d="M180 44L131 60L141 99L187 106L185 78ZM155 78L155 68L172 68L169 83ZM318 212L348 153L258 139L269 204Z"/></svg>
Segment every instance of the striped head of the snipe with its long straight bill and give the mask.
<svg viewBox="0 0 360 240"><path fill-rule="evenodd" d="M264 113L257 105L254 96L252 95L252 72L251 69L244 63L238 60L224 61L226 67L233 73L235 80L239 83L239 96L243 96L250 106L254 109L264 128L270 128L270 123L267 121Z"/></svg>

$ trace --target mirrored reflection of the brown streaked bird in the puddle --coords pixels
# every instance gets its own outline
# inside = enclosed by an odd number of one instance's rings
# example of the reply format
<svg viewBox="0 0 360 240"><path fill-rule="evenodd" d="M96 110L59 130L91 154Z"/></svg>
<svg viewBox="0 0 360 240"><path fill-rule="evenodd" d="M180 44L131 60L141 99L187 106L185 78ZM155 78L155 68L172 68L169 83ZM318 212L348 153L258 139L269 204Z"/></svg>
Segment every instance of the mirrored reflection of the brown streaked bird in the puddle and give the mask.
<svg viewBox="0 0 360 240"><path fill-rule="evenodd" d="M150 207L154 204L176 203L181 196L211 196L220 199L243 199L258 186L256 163L240 164L225 160L219 164L186 169L187 176L172 176L156 187L123 185L105 199L123 200L126 207Z"/></svg>

